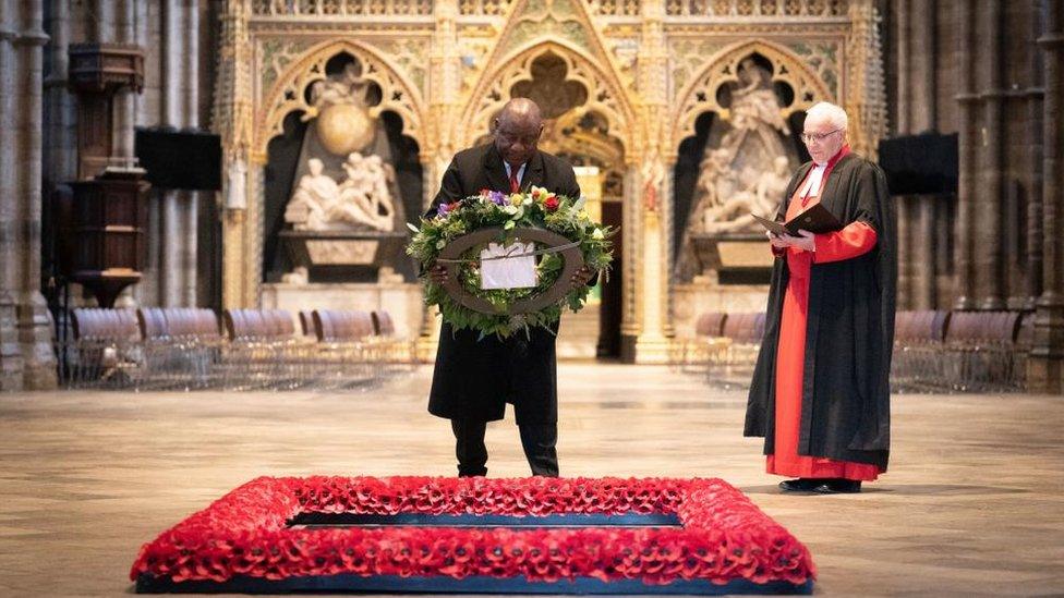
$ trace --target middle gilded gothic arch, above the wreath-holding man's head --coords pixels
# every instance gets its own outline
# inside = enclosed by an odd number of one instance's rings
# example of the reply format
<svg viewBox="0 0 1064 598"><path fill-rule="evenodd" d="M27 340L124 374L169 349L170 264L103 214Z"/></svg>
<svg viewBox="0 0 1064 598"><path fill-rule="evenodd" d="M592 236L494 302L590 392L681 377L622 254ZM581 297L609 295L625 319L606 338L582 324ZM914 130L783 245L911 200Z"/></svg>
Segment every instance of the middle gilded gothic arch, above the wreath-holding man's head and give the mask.
<svg viewBox="0 0 1064 598"><path fill-rule="evenodd" d="M566 63L567 80L580 82L588 88L588 101L575 109L578 114L597 112L605 117L610 134L620 141L626 154L632 151L636 146L636 114L616 74L563 40L533 44L484 71L470 93L467 108L459 120L456 138L460 146L469 146L485 134L488 119L510 100L509 89L515 83L531 81L532 63L551 52Z"/></svg>

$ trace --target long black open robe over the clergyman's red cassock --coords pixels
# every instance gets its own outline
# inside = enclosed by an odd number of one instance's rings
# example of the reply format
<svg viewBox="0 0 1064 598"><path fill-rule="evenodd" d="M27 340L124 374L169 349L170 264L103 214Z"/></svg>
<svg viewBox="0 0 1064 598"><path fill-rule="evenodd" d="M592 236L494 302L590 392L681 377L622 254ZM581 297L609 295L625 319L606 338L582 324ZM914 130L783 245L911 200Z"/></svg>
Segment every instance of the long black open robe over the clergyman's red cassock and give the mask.
<svg viewBox="0 0 1064 598"><path fill-rule="evenodd" d="M790 180L779 219L812 166L802 164ZM847 155L829 174L821 204L844 225L869 223L876 243L854 259L812 265L798 454L870 463L885 471L897 286L897 235L886 178L874 163ZM745 436L763 436L765 454L775 449L776 346L788 278L787 260L776 258L747 405Z"/></svg>

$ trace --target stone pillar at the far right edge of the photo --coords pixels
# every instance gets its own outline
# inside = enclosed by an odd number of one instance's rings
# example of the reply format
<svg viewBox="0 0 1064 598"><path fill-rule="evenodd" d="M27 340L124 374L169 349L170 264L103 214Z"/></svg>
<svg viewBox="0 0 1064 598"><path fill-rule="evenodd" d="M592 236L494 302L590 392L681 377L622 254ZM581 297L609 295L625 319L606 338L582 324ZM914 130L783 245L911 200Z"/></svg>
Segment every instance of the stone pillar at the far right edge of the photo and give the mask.
<svg viewBox="0 0 1064 598"><path fill-rule="evenodd" d="M1064 4L1044 2L1045 29L1038 38L1045 52L1045 99L1042 105L1042 281L1035 313L1035 346L1030 354L1031 392L1064 392Z"/></svg>

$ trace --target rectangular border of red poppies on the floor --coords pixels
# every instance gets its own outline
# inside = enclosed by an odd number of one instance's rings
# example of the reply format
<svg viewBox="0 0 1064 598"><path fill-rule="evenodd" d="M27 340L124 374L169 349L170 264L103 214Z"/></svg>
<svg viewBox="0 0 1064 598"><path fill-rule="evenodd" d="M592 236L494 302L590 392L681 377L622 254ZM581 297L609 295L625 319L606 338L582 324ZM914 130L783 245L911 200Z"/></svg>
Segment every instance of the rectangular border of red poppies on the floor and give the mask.
<svg viewBox="0 0 1064 598"><path fill-rule="evenodd" d="M680 527L287 527L301 513L660 513ZM815 571L801 542L720 479L261 477L145 545L130 572L219 584L344 574L811 588Z"/></svg>

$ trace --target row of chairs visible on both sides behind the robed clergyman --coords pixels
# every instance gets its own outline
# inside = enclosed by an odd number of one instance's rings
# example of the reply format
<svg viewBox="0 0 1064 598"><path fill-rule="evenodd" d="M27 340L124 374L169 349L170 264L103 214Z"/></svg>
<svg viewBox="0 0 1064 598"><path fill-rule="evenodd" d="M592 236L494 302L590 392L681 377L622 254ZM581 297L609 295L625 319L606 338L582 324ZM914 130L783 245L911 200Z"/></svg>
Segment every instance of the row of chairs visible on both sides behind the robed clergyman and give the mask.
<svg viewBox="0 0 1064 598"><path fill-rule="evenodd" d="M1023 390L1032 318L1021 312L898 312L892 385L903 391ZM694 337L673 343L674 366L725 387L749 383L764 314L700 314Z"/></svg>

